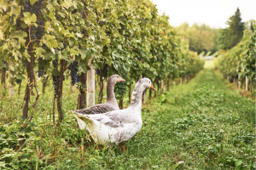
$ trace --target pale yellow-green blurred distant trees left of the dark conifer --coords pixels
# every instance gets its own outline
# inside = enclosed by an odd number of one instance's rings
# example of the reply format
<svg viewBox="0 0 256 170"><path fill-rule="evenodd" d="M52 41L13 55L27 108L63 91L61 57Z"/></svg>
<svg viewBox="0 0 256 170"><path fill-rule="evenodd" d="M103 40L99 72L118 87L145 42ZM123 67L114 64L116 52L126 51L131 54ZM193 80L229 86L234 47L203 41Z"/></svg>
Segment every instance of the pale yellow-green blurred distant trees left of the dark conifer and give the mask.
<svg viewBox="0 0 256 170"><path fill-rule="evenodd" d="M177 35L189 40L189 49L201 54L202 52L218 51L218 29L206 25L189 26L183 23L176 27Z"/></svg>

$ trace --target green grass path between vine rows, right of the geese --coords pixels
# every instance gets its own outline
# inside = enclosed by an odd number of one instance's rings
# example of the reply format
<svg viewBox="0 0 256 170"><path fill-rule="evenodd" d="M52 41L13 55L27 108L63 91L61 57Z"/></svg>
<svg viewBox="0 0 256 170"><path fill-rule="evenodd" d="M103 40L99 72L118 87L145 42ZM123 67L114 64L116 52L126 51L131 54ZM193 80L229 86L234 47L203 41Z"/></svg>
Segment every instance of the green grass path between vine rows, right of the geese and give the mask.
<svg viewBox="0 0 256 170"><path fill-rule="evenodd" d="M212 68L154 99L143 122L127 144L135 167L253 168L254 102L227 88Z"/></svg>

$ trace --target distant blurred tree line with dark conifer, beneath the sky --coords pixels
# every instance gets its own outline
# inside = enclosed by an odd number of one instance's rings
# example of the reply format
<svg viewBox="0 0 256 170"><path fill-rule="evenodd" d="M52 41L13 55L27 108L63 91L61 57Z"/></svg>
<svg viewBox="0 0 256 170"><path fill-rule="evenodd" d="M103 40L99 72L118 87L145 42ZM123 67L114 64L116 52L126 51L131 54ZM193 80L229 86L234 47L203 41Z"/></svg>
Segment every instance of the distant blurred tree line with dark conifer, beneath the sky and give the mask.
<svg viewBox="0 0 256 170"><path fill-rule="evenodd" d="M177 35L186 38L189 41L189 49L195 51L201 56L218 56L224 54L229 49L241 42L243 31L253 31L255 20L241 21L241 12L237 8L234 15L226 22L227 27L211 28L205 24L194 24L189 26L183 23L177 26Z"/></svg>

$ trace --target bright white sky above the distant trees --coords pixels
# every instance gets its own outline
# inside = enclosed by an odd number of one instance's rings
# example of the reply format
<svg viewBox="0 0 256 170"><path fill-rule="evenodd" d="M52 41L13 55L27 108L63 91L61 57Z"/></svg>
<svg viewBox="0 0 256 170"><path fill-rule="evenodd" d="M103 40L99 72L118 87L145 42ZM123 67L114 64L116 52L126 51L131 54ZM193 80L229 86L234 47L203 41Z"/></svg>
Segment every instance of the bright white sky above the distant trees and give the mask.
<svg viewBox="0 0 256 170"><path fill-rule="evenodd" d="M256 20L256 0L151 0L162 13L169 15L171 26L187 22L225 28L238 7L241 20Z"/></svg>

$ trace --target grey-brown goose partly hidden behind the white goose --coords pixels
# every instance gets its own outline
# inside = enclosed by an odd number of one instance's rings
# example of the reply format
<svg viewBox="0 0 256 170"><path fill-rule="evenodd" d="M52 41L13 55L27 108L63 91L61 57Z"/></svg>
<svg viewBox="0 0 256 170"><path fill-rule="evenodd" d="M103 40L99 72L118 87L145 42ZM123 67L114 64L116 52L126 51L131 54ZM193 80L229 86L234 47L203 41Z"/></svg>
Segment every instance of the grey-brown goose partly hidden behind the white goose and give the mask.
<svg viewBox="0 0 256 170"><path fill-rule="evenodd" d="M115 99L113 88L116 82L125 82L125 80L119 75L112 75L108 78L107 83L107 101L104 104L98 104L90 106L86 109L81 110L74 110L73 112L79 113L79 114L100 114L100 113L106 113L108 111L116 111L119 110L119 105L117 104L117 101Z"/></svg>

